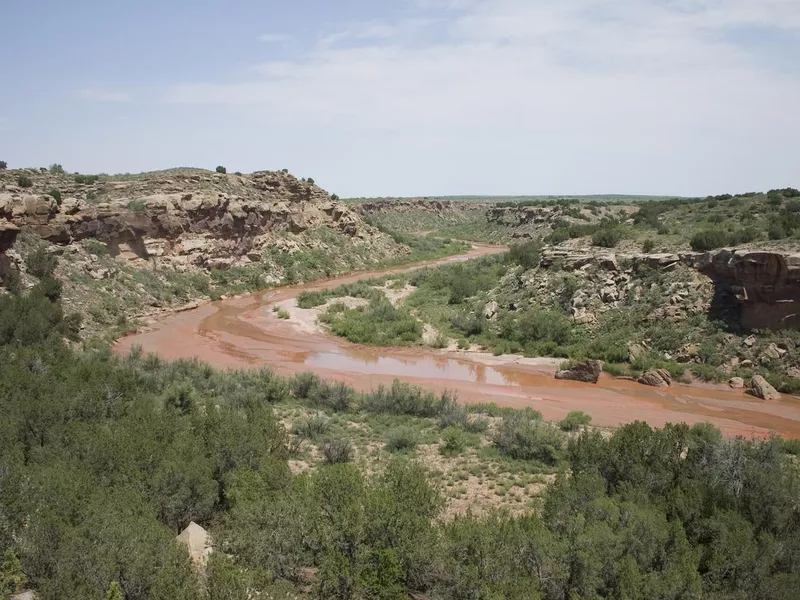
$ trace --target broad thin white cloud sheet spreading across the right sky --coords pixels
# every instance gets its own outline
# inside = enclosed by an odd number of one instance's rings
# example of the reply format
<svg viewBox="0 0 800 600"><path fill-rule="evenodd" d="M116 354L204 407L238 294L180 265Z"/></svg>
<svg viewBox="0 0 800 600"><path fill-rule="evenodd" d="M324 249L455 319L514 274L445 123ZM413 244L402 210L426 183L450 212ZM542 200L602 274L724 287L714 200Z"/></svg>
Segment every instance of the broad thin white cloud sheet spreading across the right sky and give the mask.
<svg viewBox="0 0 800 600"><path fill-rule="evenodd" d="M800 31L796 0L411 4L406 20L349 24L245 79L175 85L165 99L235 106L266 126L342 129L365 144L389 134L402 155L499 148L486 160L536 157L532 169L561 179L576 168L596 180L612 169L722 180L797 157L800 78L764 68L731 35ZM754 149L765 144L773 154L762 158Z"/></svg>

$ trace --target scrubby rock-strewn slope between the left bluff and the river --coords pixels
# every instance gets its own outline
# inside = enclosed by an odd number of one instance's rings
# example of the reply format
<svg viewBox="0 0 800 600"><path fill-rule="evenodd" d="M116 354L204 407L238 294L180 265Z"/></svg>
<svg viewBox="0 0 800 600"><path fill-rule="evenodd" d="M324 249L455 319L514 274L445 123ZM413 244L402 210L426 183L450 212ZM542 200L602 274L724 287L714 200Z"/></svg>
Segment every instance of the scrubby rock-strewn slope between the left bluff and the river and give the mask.
<svg viewBox="0 0 800 600"><path fill-rule="evenodd" d="M306 232L294 252L272 248L246 267L181 272L158 266L136 266L111 256L104 244L89 240L82 247L53 247L23 233L15 245L26 272L7 279L23 287L54 273L64 286L67 307L84 315L82 337L116 339L138 326L146 314L167 311L190 302L258 291L271 286L332 277L359 269L380 269L464 252L469 245L449 239L394 234L408 248L402 256L377 260L369 249L359 250L350 239L329 229ZM42 271L31 264L44 256ZM61 260L59 260L61 258ZM41 261L39 261L41 262Z"/></svg>

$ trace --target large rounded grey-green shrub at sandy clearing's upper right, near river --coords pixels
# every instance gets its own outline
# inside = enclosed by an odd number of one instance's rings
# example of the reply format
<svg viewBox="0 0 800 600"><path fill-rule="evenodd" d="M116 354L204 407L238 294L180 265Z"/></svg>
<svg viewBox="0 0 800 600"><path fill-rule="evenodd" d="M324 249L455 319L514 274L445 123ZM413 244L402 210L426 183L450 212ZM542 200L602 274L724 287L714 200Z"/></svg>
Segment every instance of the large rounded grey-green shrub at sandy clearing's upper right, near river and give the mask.
<svg viewBox="0 0 800 600"><path fill-rule="evenodd" d="M511 458L538 460L552 466L562 456L564 434L539 419L518 414L503 419L492 443Z"/></svg>

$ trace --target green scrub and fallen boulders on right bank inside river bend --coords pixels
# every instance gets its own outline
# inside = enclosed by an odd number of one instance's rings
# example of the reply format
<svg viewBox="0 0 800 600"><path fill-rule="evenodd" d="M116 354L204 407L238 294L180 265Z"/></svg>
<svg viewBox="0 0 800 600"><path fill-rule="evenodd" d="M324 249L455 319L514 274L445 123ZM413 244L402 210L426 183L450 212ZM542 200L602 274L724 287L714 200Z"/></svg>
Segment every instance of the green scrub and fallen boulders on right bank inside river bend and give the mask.
<svg viewBox="0 0 800 600"><path fill-rule="evenodd" d="M793 368L800 364L800 332L752 335L724 320L711 306L713 286L681 265L669 270L646 264L621 269L621 283L610 284L611 275L599 267L572 271L558 262L542 261L541 246L529 242L504 255L343 286L319 294L314 302L348 295L368 298L366 307L334 303L320 319L332 325L334 334L358 343L424 342L478 346L495 354L592 358L605 361L614 375L634 377L656 368L687 381L763 375L780 391L800 392ZM387 288L407 285L412 286L410 293L392 307ZM604 295L613 307L604 305ZM299 300L301 306L314 305L310 297L301 295ZM597 311L586 313L592 320L575 318L587 308ZM398 315L403 328L395 330L390 325ZM664 327L665 319L669 327ZM363 335L365 324L382 335ZM416 333L420 327L436 333L423 340ZM407 331L415 333L404 337Z"/></svg>

